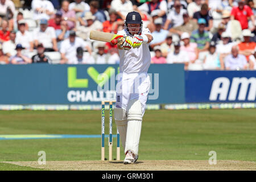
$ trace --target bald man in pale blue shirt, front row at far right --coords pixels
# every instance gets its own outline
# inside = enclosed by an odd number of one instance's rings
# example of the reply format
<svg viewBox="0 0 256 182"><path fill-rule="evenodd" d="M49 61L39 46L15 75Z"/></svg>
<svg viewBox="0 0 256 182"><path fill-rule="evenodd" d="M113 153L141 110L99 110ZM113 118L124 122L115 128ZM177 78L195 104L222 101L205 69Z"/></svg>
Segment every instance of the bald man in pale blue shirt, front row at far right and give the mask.
<svg viewBox="0 0 256 182"><path fill-rule="evenodd" d="M246 57L238 54L239 47L233 46L231 50L231 55L225 57L225 68L228 70L240 70L247 69Z"/></svg>

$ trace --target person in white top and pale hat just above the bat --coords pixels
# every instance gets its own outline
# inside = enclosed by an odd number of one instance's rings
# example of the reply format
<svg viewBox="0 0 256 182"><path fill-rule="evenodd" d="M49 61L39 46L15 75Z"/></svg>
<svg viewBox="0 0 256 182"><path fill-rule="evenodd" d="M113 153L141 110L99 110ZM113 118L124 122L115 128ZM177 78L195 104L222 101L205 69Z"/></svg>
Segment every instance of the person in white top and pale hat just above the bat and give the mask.
<svg viewBox="0 0 256 182"><path fill-rule="evenodd" d="M85 13L83 20L86 21L86 26L77 27L77 36L80 38L88 39L92 30L102 31L102 23L90 11Z"/></svg>

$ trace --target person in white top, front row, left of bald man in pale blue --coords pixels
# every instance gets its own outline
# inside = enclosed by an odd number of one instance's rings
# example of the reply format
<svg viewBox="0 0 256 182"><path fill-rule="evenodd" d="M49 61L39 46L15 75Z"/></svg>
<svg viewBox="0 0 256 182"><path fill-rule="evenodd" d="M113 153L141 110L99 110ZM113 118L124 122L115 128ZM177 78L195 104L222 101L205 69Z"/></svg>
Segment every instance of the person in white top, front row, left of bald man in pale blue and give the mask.
<svg viewBox="0 0 256 182"><path fill-rule="evenodd" d="M205 55L204 69L224 69L224 64L221 64L220 54L216 52L216 44L214 42L210 42L209 51Z"/></svg>

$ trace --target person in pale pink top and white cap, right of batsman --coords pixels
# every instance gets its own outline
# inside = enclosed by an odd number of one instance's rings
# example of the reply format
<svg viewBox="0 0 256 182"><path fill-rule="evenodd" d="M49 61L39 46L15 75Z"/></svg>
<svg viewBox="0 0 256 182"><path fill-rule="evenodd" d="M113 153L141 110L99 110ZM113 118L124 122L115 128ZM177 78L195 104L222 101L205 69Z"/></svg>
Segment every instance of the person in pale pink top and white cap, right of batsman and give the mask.
<svg viewBox="0 0 256 182"><path fill-rule="evenodd" d="M188 32L184 32L180 36L180 39L184 43L183 46L180 47L180 50L187 52L189 61L191 63L195 63L195 61L198 57L197 44L190 42L190 36L189 36Z"/></svg>

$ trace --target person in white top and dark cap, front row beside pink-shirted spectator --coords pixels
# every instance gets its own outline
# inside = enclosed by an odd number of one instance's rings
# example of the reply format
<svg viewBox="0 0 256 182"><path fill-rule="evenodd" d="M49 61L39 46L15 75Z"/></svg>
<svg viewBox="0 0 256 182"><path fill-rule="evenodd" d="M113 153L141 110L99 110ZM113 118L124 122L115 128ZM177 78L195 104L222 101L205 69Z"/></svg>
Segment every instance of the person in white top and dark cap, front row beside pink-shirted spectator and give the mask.
<svg viewBox="0 0 256 182"><path fill-rule="evenodd" d="M180 43L174 43L174 52L168 53L167 59L168 64L183 63L184 69L188 69L189 57L187 52L180 51Z"/></svg>

